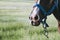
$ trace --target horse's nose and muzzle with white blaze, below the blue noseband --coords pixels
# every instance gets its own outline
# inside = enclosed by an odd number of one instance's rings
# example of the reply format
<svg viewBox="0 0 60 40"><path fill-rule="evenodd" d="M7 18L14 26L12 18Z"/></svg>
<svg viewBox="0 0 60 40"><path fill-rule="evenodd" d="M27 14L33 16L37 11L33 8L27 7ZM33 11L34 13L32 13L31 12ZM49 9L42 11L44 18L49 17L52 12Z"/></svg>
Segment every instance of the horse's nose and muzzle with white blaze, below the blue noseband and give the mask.
<svg viewBox="0 0 60 40"><path fill-rule="evenodd" d="M40 21L44 18L44 15L39 10L37 6L35 6L29 16L29 19L31 20L31 24L33 26L38 26L40 24Z"/></svg>

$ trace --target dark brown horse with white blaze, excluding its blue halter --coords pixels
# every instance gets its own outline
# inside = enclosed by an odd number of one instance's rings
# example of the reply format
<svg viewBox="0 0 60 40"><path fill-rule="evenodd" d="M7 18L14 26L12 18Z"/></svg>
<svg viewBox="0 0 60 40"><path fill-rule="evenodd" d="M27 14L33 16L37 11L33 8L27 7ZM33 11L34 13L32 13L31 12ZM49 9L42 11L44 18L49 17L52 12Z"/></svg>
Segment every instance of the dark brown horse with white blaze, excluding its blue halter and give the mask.
<svg viewBox="0 0 60 40"><path fill-rule="evenodd" d="M57 1L57 5L56 5L57 7L51 13L54 15L54 17L58 22L58 31L60 33L60 0L56 0L56 1ZM52 6L55 4L55 1L54 0L38 0L37 3L41 5L46 12L48 12L48 10L50 10ZM40 10L40 7L33 6L33 10L31 11L31 14L29 16L29 19L31 20L31 24L33 26L39 26L41 21L44 18L46 18L46 16L43 13L43 11Z"/></svg>

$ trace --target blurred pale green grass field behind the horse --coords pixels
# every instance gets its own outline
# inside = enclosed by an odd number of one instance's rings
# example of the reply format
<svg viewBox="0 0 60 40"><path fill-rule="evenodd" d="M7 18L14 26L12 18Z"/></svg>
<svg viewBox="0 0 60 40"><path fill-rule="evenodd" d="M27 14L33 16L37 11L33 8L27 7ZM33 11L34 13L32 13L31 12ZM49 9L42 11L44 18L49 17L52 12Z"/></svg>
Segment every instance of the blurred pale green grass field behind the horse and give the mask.
<svg viewBox="0 0 60 40"><path fill-rule="evenodd" d="M42 25L35 27L29 22L33 1L0 1L0 40L60 40L57 21L53 15L48 16L49 38L43 35Z"/></svg>

